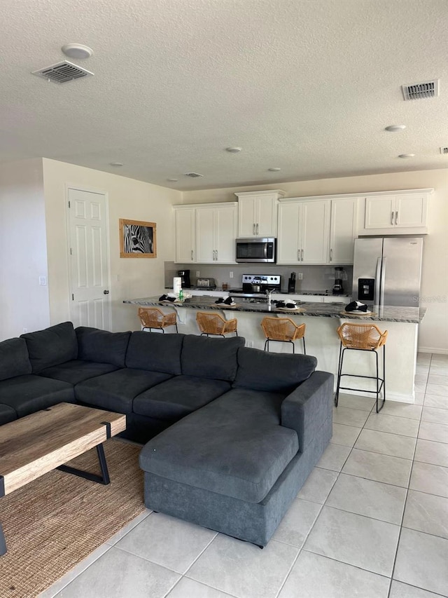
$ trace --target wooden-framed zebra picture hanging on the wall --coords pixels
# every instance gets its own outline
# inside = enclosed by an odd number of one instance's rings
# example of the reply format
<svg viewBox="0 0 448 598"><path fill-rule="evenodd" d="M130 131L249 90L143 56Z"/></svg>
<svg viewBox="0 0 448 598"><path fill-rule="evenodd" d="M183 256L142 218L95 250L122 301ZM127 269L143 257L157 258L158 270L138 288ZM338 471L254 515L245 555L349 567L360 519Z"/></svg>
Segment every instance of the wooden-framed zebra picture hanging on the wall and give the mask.
<svg viewBox="0 0 448 598"><path fill-rule="evenodd" d="M155 222L120 218L120 257L157 257Z"/></svg>

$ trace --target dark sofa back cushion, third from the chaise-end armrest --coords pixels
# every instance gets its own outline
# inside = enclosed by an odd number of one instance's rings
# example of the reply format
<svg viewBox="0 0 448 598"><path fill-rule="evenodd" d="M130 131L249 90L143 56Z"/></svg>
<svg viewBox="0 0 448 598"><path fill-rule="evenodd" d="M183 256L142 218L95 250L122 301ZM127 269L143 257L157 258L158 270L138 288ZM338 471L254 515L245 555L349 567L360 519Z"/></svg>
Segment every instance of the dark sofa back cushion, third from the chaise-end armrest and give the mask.
<svg viewBox="0 0 448 598"><path fill-rule="evenodd" d="M126 353L126 367L179 375L185 334L132 332Z"/></svg>

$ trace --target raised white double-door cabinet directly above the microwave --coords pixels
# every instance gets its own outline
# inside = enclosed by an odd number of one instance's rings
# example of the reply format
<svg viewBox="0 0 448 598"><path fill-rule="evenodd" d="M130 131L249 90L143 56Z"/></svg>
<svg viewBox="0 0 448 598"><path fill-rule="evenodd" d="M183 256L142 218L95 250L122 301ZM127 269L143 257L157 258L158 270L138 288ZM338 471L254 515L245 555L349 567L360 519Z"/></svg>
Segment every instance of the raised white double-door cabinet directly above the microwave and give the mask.
<svg viewBox="0 0 448 598"><path fill-rule="evenodd" d="M238 237L276 237L277 206L281 189L235 193L238 198Z"/></svg>

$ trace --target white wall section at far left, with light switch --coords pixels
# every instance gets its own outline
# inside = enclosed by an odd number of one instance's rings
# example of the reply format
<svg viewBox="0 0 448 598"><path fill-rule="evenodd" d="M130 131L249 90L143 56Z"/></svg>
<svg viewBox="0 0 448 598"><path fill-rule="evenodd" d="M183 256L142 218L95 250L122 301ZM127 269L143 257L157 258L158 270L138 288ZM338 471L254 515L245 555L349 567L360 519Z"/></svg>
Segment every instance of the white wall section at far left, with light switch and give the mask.
<svg viewBox="0 0 448 598"><path fill-rule="evenodd" d="M0 340L50 325L42 160L0 167Z"/></svg>

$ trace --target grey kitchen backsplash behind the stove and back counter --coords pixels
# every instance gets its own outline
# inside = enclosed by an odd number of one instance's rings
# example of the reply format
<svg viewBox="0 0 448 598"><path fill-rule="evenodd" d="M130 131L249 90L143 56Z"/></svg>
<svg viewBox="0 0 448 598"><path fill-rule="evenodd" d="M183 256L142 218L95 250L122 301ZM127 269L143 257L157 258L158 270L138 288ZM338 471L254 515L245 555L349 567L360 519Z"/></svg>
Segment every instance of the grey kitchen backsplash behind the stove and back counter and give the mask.
<svg viewBox="0 0 448 598"><path fill-rule="evenodd" d="M229 288L241 287L243 274L280 274L281 290L288 290L288 278L291 272L296 273L295 292L300 290L330 290L335 284L334 266L276 266L262 264L175 264L174 261L165 261L165 287L171 288L173 277L177 276L178 270L190 270L190 280L192 287L196 286L197 272L200 272L200 278L214 278L216 287L221 289L223 283L228 284ZM233 278L230 278L230 272L233 272ZM302 273L303 279L298 280L299 273ZM344 266L343 287L344 292L351 292L351 280L353 278L353 266Z"/></svg>

